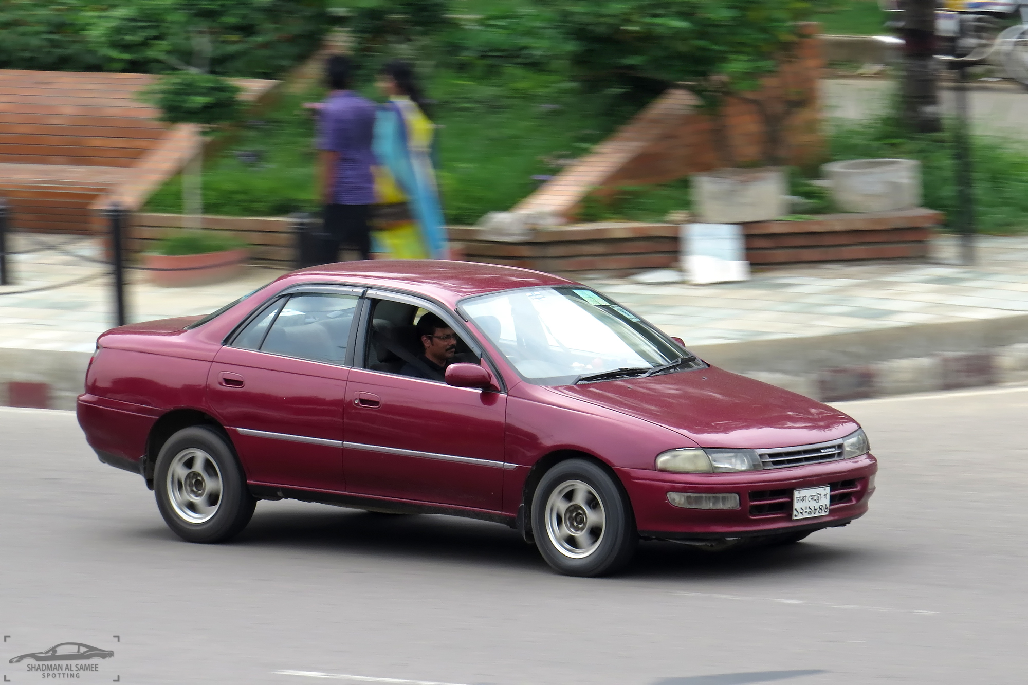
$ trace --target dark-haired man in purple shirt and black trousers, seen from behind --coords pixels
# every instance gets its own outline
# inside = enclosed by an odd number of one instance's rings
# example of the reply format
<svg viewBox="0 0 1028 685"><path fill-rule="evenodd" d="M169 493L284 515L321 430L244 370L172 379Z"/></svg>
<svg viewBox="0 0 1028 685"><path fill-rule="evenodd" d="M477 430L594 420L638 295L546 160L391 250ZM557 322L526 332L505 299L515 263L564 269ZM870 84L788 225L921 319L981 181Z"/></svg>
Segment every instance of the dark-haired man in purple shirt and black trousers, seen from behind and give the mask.
<svg viewBox="0 0 1028 685"><path fill-rule="evenodd" d="M340 245L351 245L361 259L371 258L370 207L375 202L371 168L374 153L374 103L351 91L348 58L333 56L326 63L328 97L318 117L321 150L321 200L325 206L325 263L339 259Z"/></svg>

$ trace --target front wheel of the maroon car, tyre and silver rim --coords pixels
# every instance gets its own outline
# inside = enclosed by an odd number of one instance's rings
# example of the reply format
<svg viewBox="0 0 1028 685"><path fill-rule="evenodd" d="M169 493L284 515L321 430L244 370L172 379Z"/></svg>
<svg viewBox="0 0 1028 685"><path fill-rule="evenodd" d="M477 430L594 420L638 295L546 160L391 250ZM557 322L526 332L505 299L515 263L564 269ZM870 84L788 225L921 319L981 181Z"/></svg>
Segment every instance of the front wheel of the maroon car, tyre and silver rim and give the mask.
<svg viewBox="0 0 1028 685"><path fill-rule="evenodd" d="M547 471L531 501L539 552L568 576L601 576L623 569L638 544L628 498L607 471L584 459Z"/></svg>

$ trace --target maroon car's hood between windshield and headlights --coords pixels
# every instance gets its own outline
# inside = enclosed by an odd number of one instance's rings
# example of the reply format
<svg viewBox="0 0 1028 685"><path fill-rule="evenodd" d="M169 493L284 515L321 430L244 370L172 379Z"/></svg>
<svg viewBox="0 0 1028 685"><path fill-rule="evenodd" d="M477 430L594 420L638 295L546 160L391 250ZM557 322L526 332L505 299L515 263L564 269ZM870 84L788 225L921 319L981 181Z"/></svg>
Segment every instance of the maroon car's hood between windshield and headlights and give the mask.
<svg viewBox="0 0 1028 685"><path fill-rule="evenodd" d="M552 390L664 426L703 447L791 447L858 428L809 397L717 367Z"/></svg>

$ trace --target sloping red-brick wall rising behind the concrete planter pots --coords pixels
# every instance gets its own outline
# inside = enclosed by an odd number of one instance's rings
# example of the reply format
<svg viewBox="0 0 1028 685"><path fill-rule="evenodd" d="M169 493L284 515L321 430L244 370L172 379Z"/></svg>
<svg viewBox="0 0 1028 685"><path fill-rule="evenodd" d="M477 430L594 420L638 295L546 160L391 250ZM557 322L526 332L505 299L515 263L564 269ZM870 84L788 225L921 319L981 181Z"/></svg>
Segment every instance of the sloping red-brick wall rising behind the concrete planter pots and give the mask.
<svg viewBox="0 0 1028 685"><path fill-rule="evenodd" d="M796 166L814 165L823 156L817 77L824 63L816 27L807 25L808 37L797 44L793 57L764 79L760 92L747 96L771 111L780 111L786 96L803 101L784 128L785 158ZM715 144L711 117L696 111L697 102L686 89L666 92L515 209L574 216L582 199L595 188L672 181L728 166L729 158L740 166L762 159L767 131L755 104L740 98L726 103L723 116L731 150L726 157Z"/></svg>

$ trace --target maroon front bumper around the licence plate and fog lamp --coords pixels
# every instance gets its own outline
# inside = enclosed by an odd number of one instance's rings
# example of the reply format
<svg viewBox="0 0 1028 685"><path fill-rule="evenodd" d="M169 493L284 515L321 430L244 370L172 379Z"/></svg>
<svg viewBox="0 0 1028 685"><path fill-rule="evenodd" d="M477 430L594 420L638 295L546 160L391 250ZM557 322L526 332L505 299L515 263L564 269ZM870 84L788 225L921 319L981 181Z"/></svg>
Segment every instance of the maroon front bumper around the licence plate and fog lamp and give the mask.
<svg viewBox="0 0 1028 685"><path fill-rule="evenodd" d="M777 535L845 526L868 511L878 471L871 454L839 462L741 473L665 473L615 469L635 513L639 535L662 539L719 539ZM832 485L829 513L793 520L793 491ZM683 509L667 493L736 493L738 509Z"/></svg>

